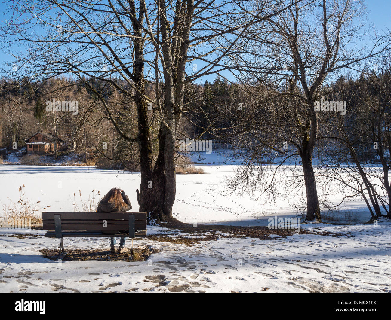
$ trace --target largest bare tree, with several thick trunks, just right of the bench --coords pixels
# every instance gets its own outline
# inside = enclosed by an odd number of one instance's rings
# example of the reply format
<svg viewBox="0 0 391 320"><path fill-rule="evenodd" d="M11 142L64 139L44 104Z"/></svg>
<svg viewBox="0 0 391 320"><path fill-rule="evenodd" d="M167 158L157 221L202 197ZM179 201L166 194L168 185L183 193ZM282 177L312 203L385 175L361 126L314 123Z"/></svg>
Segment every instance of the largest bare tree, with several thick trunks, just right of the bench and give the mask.
<svg viewBox="0 0 391 320"><path fill-rule="evenodd" d="M298 0L300 2L301 0ZM172 218L175 200L175 141L183 113L185 85L230 67L224 58L238 41L236 32L270 18L289 5L268 5L250 13L251 1L22 1L10 2L12 15L2 29L6 43L22 41L26 55L14 54L20 72L50 78L69 74L85 83L106 111L118 135L137 143L140 158L140 211L151 218ZM275 1L276 3L283 3ZM50 11L50 15L46 13ZM249 14L243 25L233 23ZM23 21L23 22L20 22ZM32 27L41 27L36 35ZM228 46L222 43L230 42ZM12 52L11 52L12 54ZM188 72L190 63L199 61ZM197 63L195 63L197 64ZM113 77L119 77L118 84ZM104 82L97 89L91 80ZM146 95L146 87L155 87ZM138 134L128 135L111 112L106 97L118 91L137 109ZM151 114L151 115L149 115ZM153 115L152 115L153 114ZM152 135L157 128L158 154Z"/></svg>

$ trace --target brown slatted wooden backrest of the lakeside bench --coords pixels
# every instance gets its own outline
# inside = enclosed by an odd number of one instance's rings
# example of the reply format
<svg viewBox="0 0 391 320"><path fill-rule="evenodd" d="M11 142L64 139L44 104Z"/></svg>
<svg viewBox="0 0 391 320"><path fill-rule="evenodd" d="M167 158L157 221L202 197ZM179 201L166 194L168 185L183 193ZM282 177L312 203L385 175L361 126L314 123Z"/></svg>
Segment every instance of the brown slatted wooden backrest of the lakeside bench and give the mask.
<svg viewBox="0 0 391 320"><path fill-rule="evenodd" d="M46 231L56 231L58 218L61 218L61 231L129 231L133 217L135 232L146 231L146 212L43 212L42 222Z"/></svg>

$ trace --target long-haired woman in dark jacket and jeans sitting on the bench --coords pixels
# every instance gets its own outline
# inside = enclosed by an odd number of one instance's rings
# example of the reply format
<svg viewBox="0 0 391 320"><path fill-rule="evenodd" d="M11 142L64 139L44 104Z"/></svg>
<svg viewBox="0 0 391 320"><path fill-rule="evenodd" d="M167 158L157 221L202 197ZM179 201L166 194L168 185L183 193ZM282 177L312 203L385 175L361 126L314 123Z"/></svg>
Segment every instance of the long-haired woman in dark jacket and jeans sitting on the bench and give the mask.
<svg viewBox="0 0 391 320"><path fill-rule="evenodd" d="M132 204L129 201L129 198L120 188L112 188L103 198L100 200L97 208L97 212L125 212L132 209ZM111 232L110 232L111 233ZM115 253L115 243L117 239L111 237L110 240L110 251ZM118 253L127 252L125 248L125 237L121 237L120 246L118 248Z"/></svg>

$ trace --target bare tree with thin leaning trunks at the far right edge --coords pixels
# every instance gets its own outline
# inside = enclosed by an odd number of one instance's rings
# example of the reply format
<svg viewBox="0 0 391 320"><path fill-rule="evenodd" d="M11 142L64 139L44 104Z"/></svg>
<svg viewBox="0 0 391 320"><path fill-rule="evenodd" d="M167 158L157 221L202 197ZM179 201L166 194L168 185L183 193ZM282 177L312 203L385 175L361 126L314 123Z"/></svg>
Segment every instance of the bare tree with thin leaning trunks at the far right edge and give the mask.
<svg viewBox="0 0 391 320"><path fill-rule="evenodd" d="M391 68L389 57L378 61L377 72L362 72L356 80L339 81L328 90L335 98L349 97L354 109L349 117L334 117L326 138L328 177L350 188L348 197L364 199L372 218L390 216L389 181ZM378 166L380 163L380 167Z"/></svg>

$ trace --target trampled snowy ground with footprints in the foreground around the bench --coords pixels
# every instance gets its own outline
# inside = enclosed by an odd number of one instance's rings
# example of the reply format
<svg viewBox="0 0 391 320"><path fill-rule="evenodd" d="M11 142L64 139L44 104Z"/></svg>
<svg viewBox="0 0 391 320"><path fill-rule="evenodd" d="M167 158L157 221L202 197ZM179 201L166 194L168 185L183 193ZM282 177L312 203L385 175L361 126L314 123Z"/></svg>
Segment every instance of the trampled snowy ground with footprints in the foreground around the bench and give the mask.
<svg viewBox="0 0 391 320"><path fill-rule="evenodd" d="M341 235L221 238L189 247L141 239L135 246L161 250L143 262L52 261L39 250L57 248L58 239L0 230L0 292L391 292L391 224L316 228ZM65 249L109 248L104 238L64 242Z"/></svg>

